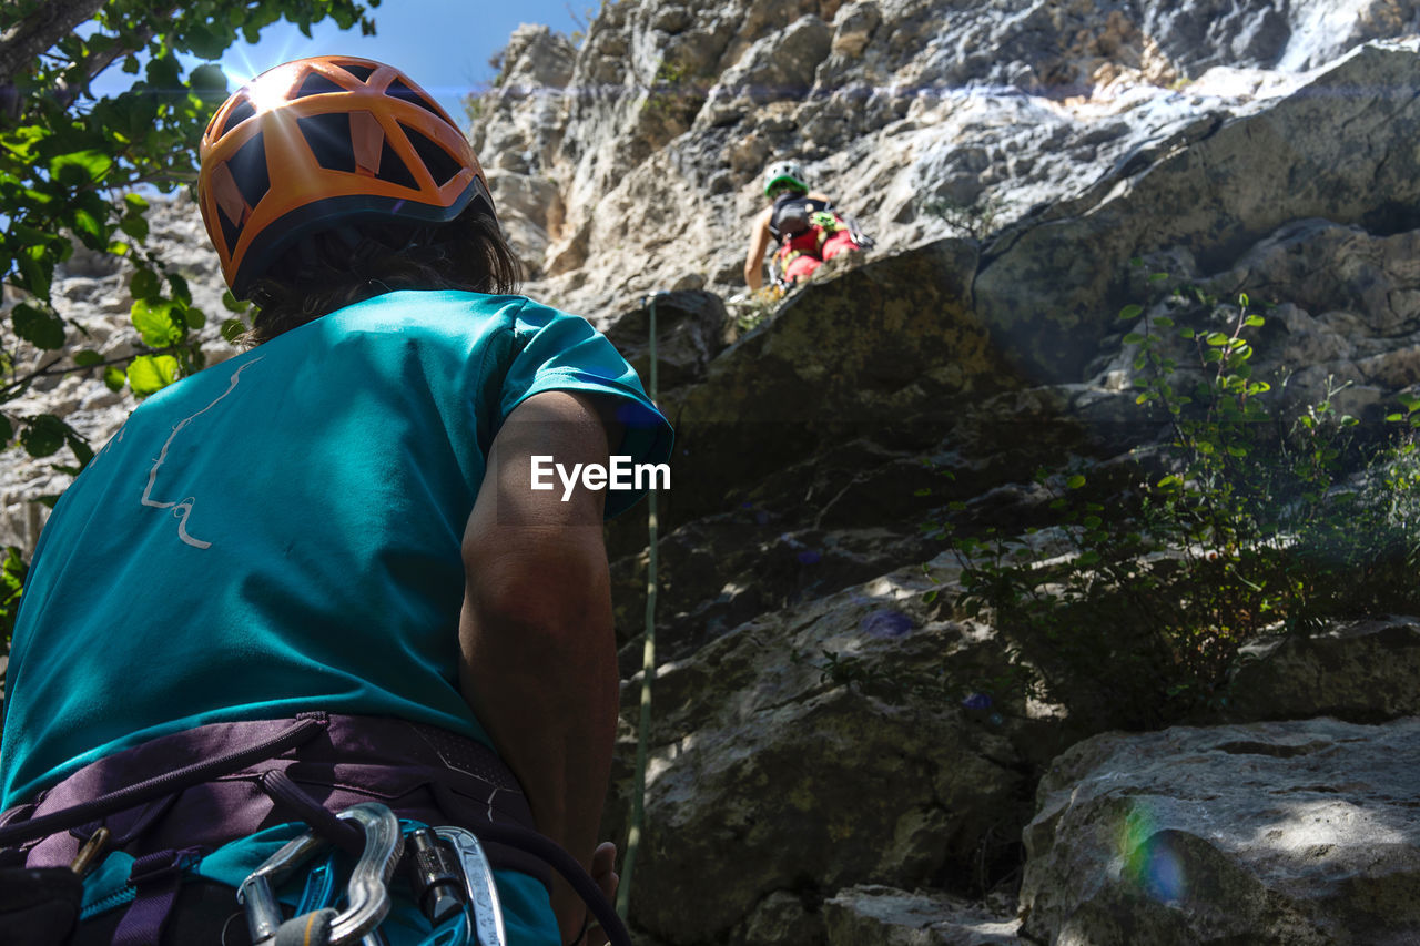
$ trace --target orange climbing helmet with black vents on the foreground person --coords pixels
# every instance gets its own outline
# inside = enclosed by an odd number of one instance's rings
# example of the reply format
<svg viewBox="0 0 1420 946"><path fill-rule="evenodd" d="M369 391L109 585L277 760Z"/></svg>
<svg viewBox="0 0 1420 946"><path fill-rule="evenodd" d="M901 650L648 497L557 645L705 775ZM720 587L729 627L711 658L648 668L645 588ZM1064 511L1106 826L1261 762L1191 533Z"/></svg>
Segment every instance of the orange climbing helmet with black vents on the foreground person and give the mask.
<svg viewBox="0 0 1420 946"><path fill-rule="evenodd" d="M351 55L267 70L202 136L197 202L239 298L295 243L362 222L447 223L488 182L463 132L392 65Z"/></svg>

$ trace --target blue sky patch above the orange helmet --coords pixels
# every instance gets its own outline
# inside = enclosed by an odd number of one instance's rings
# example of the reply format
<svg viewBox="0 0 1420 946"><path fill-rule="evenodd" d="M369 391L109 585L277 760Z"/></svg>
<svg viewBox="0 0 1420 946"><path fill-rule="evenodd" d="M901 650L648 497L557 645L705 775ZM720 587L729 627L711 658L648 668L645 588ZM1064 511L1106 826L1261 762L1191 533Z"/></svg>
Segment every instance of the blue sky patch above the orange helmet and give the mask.
<svg viewBox="0 0 1420 946"><path fill-rule="evenodd" d="M253 75L304 55L364 55L408 72L463 122L460 99L493 80L488 58L507 45L520 23L545 23L571 34L592 18L594 6L594 0L383 0L372 11L373 37L362 37L359 27L341 31L327 21L307 40L283 20L263 30L260 43L229 48L222 67L236 91ZM94 92L112 92L131 81L114 67L94 84Z"/></svg>

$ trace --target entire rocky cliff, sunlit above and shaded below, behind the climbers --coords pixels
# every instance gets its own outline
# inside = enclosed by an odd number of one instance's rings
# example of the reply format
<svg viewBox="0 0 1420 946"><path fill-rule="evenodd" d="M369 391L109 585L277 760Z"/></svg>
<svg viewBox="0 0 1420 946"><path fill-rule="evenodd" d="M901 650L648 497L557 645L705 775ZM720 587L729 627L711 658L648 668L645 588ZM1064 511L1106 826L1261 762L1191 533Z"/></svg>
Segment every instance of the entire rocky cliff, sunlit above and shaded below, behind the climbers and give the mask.
<svg viewBox="0 0 1420 946"><path fill-rule="evenodd" d="M1275 304L1255 371L1279 402L1348 385L1338 408L1379 419L1416 392L1417 20L1390 0L622 0L579 43L511 37L471 136L528 293L643 376L653 304L679 430L639 942L1417 942L1416 619L1260 641L1224 713L1110 732L1137 720L1109 660L1089 686L961 699L1021 642L950 607L961 562L920 528L950 506L1027 541L1052 497L1035 472L1068 460L1127 489L1159 436L1130 332L1227 317L1173 287ZM784 156L878 246L770 311L740 271ZM216 310L190 207L159 224ZM122 280L75 257L60 283L105 355L133 344ZM95 439L128 408L97 378L45 388L20 408ZM21 500L64 474L6 476L11 541L33 543ZM645 520L608 540L629 761ZM623 766L612 837L628 785Z"/></svg>

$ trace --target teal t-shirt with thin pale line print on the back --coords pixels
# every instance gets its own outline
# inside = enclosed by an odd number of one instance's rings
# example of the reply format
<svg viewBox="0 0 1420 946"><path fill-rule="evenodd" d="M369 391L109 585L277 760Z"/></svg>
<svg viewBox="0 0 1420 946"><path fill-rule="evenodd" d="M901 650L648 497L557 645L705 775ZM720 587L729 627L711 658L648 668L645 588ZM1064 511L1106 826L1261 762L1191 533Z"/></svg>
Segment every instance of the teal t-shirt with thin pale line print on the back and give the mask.
<svg viewBox="0 0 1420 946"><path fill-rule="evenodd" d="M214 722L324 709L488 741L457 685L460 544L494 435L544 391L621 399L612 453L669 459L611 342L518 295L389 293L145 401L36 550L0 808Z"/></svg>

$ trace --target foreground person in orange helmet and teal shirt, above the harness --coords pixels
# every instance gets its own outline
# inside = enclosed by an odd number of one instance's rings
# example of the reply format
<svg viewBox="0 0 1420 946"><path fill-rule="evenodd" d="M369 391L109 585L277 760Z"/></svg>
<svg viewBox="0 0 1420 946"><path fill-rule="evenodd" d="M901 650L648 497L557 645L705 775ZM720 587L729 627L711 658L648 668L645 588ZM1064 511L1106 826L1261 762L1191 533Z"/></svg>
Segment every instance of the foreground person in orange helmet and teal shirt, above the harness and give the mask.
<svg viewBox="0 0 1420 946"><path fill-rule="evenodd" d="M665 463L669 425L585 320L501 294L517 264L481 168L392 67L254 80L207 129L199 197L257 344L145 401L55 506L14 635L0 807L43 812L94 771L160 776L139 761L153 747L302 713L398 771L417 746L359 729L392 719L430 759L477 759L435 783L500 785L490 817L511 805L609 893L601 521L640 493L535 490L531 460ZM605 942L569 888L517 868L497 872L510 942Z"/></svg>

